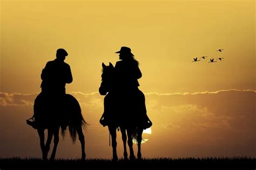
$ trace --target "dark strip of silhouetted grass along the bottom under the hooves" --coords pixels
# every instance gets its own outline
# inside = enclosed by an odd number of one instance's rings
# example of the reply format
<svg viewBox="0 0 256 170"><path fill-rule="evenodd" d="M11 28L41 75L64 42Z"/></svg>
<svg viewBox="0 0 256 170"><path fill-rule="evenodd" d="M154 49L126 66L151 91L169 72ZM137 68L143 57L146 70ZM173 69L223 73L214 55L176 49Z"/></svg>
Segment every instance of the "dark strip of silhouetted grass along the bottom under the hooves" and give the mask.
<svg viewBox="0 0 256 170"><path fill-rule="evenodd" d="M79 167L134 167L134 168L152 168L164 167L167 169L180 168L203 168L219 169L228 167L228 169L255 169L255 158L248 157L221 157L221 158L151 158L142 160L124 160L119 159L112 162L110 159L56 159L55 161L42 161L39 158L0 158L0 169L19 168L19 169L51 169L52 166L58 168L78 169ZM136 168L136 169L137 169ZM159 169L160 170L160 169Z"/></svg>

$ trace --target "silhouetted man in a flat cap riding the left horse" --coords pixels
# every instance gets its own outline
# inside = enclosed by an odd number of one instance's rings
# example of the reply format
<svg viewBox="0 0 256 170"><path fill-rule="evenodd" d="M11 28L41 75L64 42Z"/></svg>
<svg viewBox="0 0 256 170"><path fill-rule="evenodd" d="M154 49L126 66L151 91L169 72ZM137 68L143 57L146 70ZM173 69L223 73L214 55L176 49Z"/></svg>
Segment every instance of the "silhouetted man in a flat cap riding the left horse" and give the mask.
<svg viewBox="0 0 256 170"><path fill-rule="evenodd" d="M38 123L47 124L49 119L56 118L57 112L62 112L58 109L63 109L63 103L65 101L65 86L66 83L73 81L72 73L68 63L64 62L68 53L63 48L57 49L56 59L48 61L41 74L41 88L42 92L36 97L34 104L35 121L27 121L29 125L37 129ZM41 105L40 108L39 105ZM42 110L44 108L45 110ZM36 110L36 111L35 111ZM36 114L35 113L39 114ZM55 115L48 115L48 114ZM65 129L68 125L68 119L66 115L62 115L63 124L62 128Z"/></svg>

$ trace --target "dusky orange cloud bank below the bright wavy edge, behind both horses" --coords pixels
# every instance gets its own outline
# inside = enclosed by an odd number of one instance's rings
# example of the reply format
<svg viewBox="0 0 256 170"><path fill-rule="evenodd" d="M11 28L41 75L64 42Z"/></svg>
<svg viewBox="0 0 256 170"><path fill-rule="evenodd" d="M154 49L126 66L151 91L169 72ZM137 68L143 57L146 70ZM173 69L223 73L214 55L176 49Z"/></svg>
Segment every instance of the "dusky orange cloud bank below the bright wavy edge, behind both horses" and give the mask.
<svg viewBox="0 0 256 170"><path fill-rule="evenodd" d="M35 147L37 146L37 138L31 139L25 133L30 128L25 125L25 119L31 116L33 101L37 95L37 93L0 93L0 123L4 127L0 151L3 157L11 154L8 148L17 148L17 136L19 141L24 141L21 145L26 145L30 140L31 143L35 143L33 144ZM90 124L85 134L86 145L89 147L88 155L105 158L107 154L107 157L111 158L111 148L107 144L105 146L109 140L109 133L106 127L103 128L99 124L99 118L103 113L104 96L99 95L98 92L89 94L72 92L71 95L79 101L85 120ZM145 157L178 157L180 154L184 157L225 155L255 157L255 90L231 89L182 94L147 93L145 97L147 114L153 122L152 134L148 136L144 134L149 139L143 145ZM17 126L11 126L10 122ZM18 134L21 130L24 133ZM33 132L31 129L30 133ZM121 138L118 140L118 144L121 144ZM3 146L8 141L12 142L5 149ZM97 147L102 148L102 151L96 152ZM122 155L122 145L119 147L118 152ZM29 147L26 150L29 150ZM60 155L65 155L66 151L64 153L62 150L65 149L59 149ZM152 150L154 152L151 152ZM70 152L74 157L79 155L75 151ZM15 153L30 156L23 151Z"/></svg>

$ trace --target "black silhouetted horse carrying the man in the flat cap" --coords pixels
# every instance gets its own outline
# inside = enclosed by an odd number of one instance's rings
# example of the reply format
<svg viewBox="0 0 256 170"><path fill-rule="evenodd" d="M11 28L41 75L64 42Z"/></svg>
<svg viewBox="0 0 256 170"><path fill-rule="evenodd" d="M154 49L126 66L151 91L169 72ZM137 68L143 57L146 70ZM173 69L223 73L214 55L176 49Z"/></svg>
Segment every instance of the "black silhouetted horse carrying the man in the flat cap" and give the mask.
<svg viewBox="0 0 256 170"><path fill-rule="evenodd" d="M54 146L50 160L55 159L56 149L59 141L59 129L62 129L62 136L65 137L66 127L69 126L70 136L73 143L78 138L82 148L82 159L85 155L85 141L83 129L86 129L87 123L84 121L80 105L75 97L66 94L60 97L46 97L39 94L35 99L34 116L37 123L37 132L40 138L40 146L42 150L43 160L47 160L48 152L52 137L54 136ZM44 130L48 129L48 138L44 144Z"/></svg>

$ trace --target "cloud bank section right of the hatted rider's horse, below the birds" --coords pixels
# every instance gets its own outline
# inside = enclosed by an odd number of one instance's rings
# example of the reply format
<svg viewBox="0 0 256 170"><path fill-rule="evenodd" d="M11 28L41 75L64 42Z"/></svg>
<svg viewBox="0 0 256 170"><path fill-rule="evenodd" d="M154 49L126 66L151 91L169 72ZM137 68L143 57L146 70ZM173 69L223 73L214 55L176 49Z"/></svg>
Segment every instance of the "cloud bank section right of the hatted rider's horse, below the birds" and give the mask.
<svg viewBox="0 0 256 170"><path fill-rule="evenodd" d="M152 133L163 136L163 145L214 146L219 151L205 153L214 156L255 155L255 99L255 90L150 93L146 105Z"/></svg>

